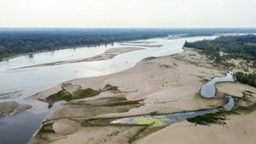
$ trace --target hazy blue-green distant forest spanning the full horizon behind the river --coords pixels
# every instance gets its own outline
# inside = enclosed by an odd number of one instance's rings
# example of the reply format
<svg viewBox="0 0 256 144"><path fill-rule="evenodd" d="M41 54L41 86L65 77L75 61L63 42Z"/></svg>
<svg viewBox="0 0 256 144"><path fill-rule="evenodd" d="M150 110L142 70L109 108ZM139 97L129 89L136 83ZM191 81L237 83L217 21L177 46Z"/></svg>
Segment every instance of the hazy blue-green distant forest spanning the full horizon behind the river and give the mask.
<svg viewBox="0 0 256 144"><path fill-rule="evenodd" d="M64 47L109 44L184 34L183 37L212 36L215 33L256 33L256 29L18 29L0 28L0 60L16 54L54 51Z"/></svg>

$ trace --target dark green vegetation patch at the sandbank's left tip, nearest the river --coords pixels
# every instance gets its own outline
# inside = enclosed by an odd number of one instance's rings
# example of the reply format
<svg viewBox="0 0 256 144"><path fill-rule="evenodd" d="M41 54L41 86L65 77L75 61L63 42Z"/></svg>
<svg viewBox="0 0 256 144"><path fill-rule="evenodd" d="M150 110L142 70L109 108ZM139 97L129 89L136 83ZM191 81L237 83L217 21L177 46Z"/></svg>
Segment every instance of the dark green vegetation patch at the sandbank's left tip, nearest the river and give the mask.
<svg viewBox="0 0 256 144"><path fill-rule="evenodd" d="M47 100L72 100L72 95L67 92L66 90L60 90L58 93L52 94L51 96L47 97Z"/></svg>

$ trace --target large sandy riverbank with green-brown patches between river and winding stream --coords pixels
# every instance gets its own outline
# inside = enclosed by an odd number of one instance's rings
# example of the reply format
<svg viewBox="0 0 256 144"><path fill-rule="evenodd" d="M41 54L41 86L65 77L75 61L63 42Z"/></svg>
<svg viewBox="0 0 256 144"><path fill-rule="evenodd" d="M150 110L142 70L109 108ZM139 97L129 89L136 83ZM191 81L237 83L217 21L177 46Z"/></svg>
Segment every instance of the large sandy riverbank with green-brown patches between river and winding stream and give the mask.
<svg viewBox="0 0 256 144"><path fill-rule="evenodd" d="M99 94L62 104L43 121L30 143L133 142L144 132L145 125L110 125L110 121L141 114L170 114L222 106L225 100L204 99L199 91L209 79L225 76L225 72L209 64L204 55L186 49L180 54L146 58L123 72L59 84L38 93L37 97L47 101L51 100L49 96L66 91L72 95L70 100L76 91L85 93L88 88ZM108 85L117 86L117 90L105 90ZM95 135L96 131L101 135Z"/></svg>

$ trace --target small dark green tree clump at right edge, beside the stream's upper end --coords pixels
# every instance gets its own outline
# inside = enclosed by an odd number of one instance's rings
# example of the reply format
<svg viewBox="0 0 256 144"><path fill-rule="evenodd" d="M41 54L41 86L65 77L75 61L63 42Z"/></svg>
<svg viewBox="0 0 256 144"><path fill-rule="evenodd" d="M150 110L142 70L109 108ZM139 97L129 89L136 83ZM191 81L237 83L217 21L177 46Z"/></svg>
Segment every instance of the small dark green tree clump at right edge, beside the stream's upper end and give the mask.
<svg viewBox="0 0 256 144"><path fill-rule="evenodd" d="M256 87L256 73L236 72L236 80L240 83Z"/></svg>

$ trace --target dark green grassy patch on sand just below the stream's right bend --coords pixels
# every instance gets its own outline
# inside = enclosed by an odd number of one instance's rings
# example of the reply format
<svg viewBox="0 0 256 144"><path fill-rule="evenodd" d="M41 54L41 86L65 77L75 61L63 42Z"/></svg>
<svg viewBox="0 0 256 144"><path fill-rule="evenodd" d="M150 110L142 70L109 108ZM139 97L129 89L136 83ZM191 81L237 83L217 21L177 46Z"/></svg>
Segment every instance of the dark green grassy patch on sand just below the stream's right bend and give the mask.
<svg viewBox="0 0 256 144"><path fill-rule="evenodd" d="M236 111L217 111L211 114L197 115L193 118L187 118L187 121L199 124L199 125L226 125L226 115L238 114Z"/></svg>

